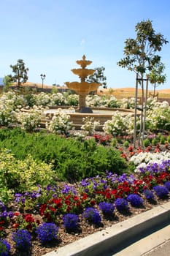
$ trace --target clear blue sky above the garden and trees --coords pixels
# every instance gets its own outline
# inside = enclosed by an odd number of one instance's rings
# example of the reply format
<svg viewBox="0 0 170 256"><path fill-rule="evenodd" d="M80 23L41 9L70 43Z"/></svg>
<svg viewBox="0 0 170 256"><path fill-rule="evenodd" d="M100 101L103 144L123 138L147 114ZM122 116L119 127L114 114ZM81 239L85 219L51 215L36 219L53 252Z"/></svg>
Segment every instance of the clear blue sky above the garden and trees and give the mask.
<svg viewBox="0 0 170 256"><path fill-rule="evenodd" d="M1 0L0 77L12 73L10 64L23 59L28 81L63 85L79 81L71 72L76 61L105 67L109 88L134 87L135 74L117 66L125 39L135 38L136 23L150 19L156 32L169 40L158 53L166 65L170 88L170 1L162 0ZM150 86L152 89L152 86Z"/></svg>

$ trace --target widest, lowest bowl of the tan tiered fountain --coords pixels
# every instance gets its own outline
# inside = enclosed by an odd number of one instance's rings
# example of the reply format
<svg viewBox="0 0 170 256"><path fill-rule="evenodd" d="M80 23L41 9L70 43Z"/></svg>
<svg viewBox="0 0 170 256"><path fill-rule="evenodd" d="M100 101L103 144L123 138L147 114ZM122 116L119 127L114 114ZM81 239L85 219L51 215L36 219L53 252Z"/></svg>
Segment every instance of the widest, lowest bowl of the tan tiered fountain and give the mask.
<svg viewBox="0 0 170 256"><path fill-rule="evenodd" d="M76 91L79 95L87 95L90 91L96 91L100 83L88 83L88 82L65 82L66 86L73 91Z"/></svg>

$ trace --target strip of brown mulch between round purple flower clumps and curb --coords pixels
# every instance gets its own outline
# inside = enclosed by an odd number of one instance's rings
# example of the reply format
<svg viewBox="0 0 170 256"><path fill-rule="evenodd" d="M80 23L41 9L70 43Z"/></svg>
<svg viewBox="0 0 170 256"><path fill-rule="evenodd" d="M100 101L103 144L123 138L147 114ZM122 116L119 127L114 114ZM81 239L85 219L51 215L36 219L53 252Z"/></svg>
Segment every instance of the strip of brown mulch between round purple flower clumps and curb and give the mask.
<svg viewBox="0 0 170 256"><path fill-rule="evenodd" d="M134 208L130 206L130 210L122 214L119 211L115 210L115 215L113 216L112 219L105 219L103 215L100 212L101 215L101 226L96 226L96 225L90 225L88 222L85 221L85 219L82 219L80 215L80 228L77 230L75 233L67 233L66 230L64 230L64 227L61 224L59 225L59 230L58 230L58 241L55 243L50 243L50 244L45 244L41 245L37 239L32 241L32 248L31 252L24 252L22 256L42 256L45 255L47 252L51 251L58 251L58 248L61 246L65 246L66 244L71 244L74 241L77 241L81 238L85 238L86 236L89 236L90 234L96 233L98 231L104 230L107 227L111 227L115 225L118 222L123 222L125 219L129 219L131 217L134 217L138 214L142 214L144 211L148 211L152 208L155 208L157 206L160 206L163 203L169 202L170 198L166 198L166 200L161 200L157 199L155 200L155 203L150 203L147 200L144 199L144 205L141 208ZM12 256L18 256L18 252L16 252L14 248L14 244L11 239L11 233L15 232L14 229L9 228L6 230L7 232L7 238L6 240L9 242L11 245L11 255Z"/></svg>

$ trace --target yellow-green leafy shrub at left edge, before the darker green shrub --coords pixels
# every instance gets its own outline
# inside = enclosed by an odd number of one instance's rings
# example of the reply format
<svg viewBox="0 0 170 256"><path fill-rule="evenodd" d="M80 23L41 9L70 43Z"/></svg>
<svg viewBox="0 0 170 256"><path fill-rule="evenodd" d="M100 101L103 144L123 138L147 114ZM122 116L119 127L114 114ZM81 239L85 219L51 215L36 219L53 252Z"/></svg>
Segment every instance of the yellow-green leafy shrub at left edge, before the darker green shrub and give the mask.
<svg viewBox="0 0 170 256"><path fill-rule="evenodd" d="M12 194L46 187L55 183L55 172L51 165L34 160L31 156L18 160L7 149L0 151L0 200L7 202Z"/></svg>

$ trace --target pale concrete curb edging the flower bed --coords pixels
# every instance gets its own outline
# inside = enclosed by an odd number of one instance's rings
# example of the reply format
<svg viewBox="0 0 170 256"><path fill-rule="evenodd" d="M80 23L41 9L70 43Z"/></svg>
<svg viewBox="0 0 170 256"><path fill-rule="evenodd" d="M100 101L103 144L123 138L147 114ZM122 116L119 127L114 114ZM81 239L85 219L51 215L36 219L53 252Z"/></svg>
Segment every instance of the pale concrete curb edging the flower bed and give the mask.
<svg viewBox="0 0 170 256"><path fill-rule="evenodd" d="M137 240L139 236L142 236L142 233L146 233L169 221L170 202L81 238L72 244L60 247L44 256L107 255L112 249L125 246L127 241Z"/></svg>

